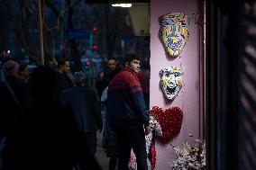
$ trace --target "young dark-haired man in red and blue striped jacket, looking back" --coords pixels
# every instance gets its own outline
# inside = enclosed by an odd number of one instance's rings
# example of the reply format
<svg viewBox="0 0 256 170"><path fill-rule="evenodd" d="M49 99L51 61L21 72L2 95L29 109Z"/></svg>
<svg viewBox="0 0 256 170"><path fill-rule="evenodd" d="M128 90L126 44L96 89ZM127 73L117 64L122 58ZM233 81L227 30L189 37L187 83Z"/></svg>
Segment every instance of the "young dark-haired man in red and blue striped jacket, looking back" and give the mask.
<svg viewBox="0 0 256 170"><path fill-rule="evenodd" d="M107 121L117 136L118 169L122 170L128 170L132 148L138 170L148 169L145 133L149 128L149 113L137 76L140 60L135 54L127 54L122 71L108 85Z"/></svg>

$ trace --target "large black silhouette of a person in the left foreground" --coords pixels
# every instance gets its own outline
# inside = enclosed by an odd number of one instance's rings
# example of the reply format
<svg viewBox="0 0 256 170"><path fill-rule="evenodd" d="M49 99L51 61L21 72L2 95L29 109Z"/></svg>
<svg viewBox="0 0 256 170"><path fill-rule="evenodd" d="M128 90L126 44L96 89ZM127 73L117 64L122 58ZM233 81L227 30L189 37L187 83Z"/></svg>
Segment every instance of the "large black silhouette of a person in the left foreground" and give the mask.
<svg viewBox="0 0 256 170"><path fill-rule="evenodd" d="M50 67L36 68L29 81L32 107L14 124L6 137L5 170L100 169L78 130L69 108L60 106L57 73Z"/></svg>

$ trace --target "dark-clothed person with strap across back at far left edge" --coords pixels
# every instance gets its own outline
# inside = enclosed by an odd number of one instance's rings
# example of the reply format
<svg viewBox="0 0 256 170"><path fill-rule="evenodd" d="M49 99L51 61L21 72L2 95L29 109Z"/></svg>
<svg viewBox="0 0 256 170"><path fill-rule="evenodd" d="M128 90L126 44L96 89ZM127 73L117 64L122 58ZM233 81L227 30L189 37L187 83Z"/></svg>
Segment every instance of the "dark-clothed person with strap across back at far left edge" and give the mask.
<svg viewBox="0 0 256 170"><path fill-rule="evenodd" d="M28 108L29 99L26 84L18 78L19 65L13 60L4 64L4 82L0 83L0 168L5 138L14 122Z"/></svg>

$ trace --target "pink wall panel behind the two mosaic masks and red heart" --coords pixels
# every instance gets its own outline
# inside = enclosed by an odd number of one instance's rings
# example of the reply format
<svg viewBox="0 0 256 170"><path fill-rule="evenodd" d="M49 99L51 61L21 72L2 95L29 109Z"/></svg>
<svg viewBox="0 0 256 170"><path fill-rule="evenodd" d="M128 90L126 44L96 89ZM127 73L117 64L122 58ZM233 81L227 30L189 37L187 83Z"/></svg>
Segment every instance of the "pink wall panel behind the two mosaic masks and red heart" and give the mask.
<svg viewBox="0 0 256 170"><path fill-rule="evenodd" d="M156 144L157 165L156 169L170 169L170 163L176 156L171 145L182 147L183 143L194 145L194 139L198 139L200 131L200 115L202 112L202 76L203 65L202 41L199 34L200 27L195 23L197 13L197 0L151 0L151 102L152 106L169 108L178 106L184 112L184 119L180 133L177 138L169 144ZM188 31L189 37L180 57L173 60L166 57L164 49L158 38L159 22L158 17L166 13L185 13L190 18ZM201 59L200 59L201 58ZM160 90L160 69L163 67L177 66L184 69L184 85L173 103L165 103ZM200 102L201 101L201 102ZM200 113L201 112L201 113ZM202 116L201 116L202 117ZM189 137L192 136L192 137ZM171 144L171 145L170 145Z"/></svg>

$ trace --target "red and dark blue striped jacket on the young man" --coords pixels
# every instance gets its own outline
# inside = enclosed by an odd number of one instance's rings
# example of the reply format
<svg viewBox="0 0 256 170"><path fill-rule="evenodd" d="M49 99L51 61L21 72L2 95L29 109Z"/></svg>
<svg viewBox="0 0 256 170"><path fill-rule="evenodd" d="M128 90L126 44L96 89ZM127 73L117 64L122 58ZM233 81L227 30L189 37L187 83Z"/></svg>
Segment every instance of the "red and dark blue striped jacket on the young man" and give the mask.
<svg viewBox="0 0 256 170"><path fill-rule="evenodd" d="M127 67L108 85L107 121L111 126L149 123L140 81L137 74Z"/></svg>

